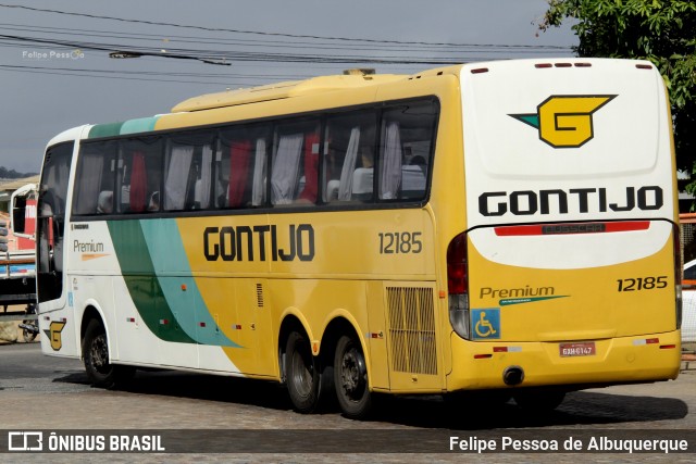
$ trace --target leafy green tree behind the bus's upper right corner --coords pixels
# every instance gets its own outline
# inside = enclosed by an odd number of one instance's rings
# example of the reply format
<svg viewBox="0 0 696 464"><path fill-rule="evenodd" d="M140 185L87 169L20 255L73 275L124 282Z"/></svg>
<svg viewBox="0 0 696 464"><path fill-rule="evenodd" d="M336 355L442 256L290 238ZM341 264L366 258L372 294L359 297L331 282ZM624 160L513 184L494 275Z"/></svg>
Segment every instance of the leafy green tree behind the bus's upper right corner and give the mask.
<svg viewBox="0 0 696 464"><path fill-rule="evenodd" d="M696 174L696 2L693 0L548 0L538 24L567 18L580 39L579 57L652 62L669 90L679 168ZM687 190L696 192L696 181Z"/></svg>

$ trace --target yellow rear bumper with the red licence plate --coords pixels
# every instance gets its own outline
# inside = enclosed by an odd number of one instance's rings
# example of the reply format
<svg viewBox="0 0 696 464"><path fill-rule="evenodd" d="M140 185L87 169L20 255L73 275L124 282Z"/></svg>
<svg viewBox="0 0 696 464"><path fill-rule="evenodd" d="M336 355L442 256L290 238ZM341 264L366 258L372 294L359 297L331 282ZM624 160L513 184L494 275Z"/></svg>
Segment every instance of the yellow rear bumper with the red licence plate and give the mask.
<svg viewBox="0 0 696 464"><path fill-rule="evenodd" d="M674 379L681 364L679 330L650 336L554 342L467 341L451 334L447 390L592 386ZM506 372L521 369L520 376Z"/></svg>

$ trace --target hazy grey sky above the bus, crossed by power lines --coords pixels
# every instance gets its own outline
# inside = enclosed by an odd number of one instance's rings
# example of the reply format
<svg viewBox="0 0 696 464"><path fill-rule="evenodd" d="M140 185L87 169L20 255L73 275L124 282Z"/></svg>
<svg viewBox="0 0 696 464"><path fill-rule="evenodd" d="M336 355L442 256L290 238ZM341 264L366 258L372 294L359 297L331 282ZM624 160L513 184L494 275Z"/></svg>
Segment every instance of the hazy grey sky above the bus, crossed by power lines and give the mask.
<svg viewBox="0 0 696 464"><path fill-rule="evenodd" d="M412 74L571 57L570 25L537 30L546 9L546 0L0 0L0 166L38 173L47 142L65 129L166 113L225 89L353 67Z"/></svg>

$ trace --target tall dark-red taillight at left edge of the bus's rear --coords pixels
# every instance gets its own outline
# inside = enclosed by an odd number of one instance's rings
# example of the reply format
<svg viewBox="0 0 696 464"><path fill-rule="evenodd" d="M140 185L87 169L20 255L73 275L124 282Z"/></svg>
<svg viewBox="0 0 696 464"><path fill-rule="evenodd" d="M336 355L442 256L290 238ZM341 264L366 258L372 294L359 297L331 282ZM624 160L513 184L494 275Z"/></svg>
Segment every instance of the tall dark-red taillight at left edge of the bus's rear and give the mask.
<svg viewBox="0 0 696 464"><path fill-rule="evenodd" d="M467 235L460 234L447 247L447 292L449 322L461 338L469 339L469 279Z"/></svg>

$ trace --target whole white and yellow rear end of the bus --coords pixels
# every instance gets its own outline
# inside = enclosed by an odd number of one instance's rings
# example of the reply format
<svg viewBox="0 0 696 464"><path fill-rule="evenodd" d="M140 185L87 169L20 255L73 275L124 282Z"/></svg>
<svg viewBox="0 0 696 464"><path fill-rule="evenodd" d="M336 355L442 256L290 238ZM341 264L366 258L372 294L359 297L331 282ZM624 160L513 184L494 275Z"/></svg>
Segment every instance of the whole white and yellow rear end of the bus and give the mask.
<svg viewBox="0 0 696 464"><path fill-rule="evenodd" d="M675 378L679 229L659 73L519 61L464 66L461 83L467 229L448 253L448 389Z"/></svg>

